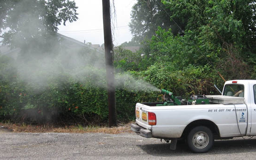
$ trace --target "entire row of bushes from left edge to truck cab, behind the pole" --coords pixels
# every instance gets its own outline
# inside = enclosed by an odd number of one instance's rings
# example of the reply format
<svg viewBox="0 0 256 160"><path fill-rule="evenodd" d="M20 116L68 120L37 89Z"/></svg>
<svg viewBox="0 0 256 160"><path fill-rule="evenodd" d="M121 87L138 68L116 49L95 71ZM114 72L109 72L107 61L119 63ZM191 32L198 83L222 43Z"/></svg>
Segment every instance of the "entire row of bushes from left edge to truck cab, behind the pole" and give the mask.
<svg viewBox="0 0 256 160"><path fill-rule="evenodd" d="M0 61L3 62L0 66L0 119L35 123L108 121L105 70L81 67L76 75L65 72L31 75L44 79L39 83L26 81L29 77L20 78L11 59L0 57ZM117 120L122 122L135 118L137 102L161 101L158 88L188 98L191 94L216 93L215 83L222 86L222 80L209 66L189 65L178 70L168 62L156 62L141 72L118 73L115 80Z"/></svg>

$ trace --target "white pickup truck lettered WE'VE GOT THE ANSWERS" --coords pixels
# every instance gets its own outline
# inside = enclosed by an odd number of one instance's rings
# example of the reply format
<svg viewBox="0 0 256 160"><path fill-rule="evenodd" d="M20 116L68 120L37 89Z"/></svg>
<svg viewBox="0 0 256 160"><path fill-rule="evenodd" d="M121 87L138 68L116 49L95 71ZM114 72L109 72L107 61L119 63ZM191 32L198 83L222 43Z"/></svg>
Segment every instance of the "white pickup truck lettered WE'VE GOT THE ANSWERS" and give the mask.
<svg viewBox="0 0 256 160"><path fill-rule="evenodd" d="M171 149L177 140L185 140L195 153L209 151L215 139L256 135L256 80L226 81L222 95L206 97L210 104L137 103L131 129L146 138L171 141Z"/></svg>

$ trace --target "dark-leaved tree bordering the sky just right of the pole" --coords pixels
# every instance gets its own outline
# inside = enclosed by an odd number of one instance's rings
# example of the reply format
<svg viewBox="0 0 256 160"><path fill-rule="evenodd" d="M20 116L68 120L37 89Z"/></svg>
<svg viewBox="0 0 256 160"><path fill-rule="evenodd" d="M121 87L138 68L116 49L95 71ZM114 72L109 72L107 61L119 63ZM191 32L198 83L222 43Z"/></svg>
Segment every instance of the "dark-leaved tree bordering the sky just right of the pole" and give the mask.
<svg viewBox="0 0 256 160"><path fill-rule="evenodd" d="M157 27L162 27L172 32L182 34L185 23L179 18L170 19L172 13L162 4L161 0L137 0L137 3L132 7L131 22L129 23L130 31L133 34L133 39L141 41L145 38L150 39L155 34ZM175 22L182 28L175 25Z"/></svg>

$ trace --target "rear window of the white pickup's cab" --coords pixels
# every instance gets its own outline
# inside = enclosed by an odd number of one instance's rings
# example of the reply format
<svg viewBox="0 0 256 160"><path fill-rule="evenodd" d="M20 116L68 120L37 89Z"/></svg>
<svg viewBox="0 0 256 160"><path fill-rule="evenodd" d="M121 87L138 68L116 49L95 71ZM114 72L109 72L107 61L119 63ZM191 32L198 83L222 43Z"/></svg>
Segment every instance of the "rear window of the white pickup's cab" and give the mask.
<svg viewBox="0 0 256 160"><path fill-rule="evenodd" d="M238 84L225 85L223 95L244 97L244 86Z"/></svg>

